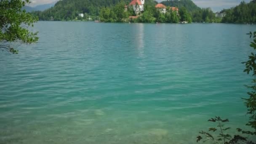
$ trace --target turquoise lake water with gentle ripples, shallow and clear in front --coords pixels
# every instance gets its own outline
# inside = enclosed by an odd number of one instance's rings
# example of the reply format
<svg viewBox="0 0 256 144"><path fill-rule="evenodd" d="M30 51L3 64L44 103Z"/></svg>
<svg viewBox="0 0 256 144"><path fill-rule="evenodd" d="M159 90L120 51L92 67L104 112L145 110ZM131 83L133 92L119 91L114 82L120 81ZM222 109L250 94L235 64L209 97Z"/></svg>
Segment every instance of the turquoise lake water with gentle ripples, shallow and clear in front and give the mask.
<svg viewBox="0 0 256 144"><path fill-rule="evenodd" d="M33 29L37 44L0 53L1 144L194 144L211 117L234 128L248 119L241 62L256 25Z"/></svg>

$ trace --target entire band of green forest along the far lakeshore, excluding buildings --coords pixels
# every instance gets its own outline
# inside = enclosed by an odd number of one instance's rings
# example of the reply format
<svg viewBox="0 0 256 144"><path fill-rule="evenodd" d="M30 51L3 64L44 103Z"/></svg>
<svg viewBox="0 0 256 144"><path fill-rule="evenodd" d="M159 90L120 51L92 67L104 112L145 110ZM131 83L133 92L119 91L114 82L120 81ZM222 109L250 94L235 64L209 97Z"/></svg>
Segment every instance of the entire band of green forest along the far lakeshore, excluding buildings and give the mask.
<svg viewBox="0 0 256 144"><path fill-rule="evenodd" d="M136 16L131 7L124 11L124 5L131 0L60 0L54 7L43 12L33 12L40 20L69 21L69 20L99 20L105 22L166 22L178 23L179 21L189 22L228 22L248 23L256 22L256 0L250 3L241 2L235 8L221 11L227 13L222 19L216 17L211 8L199 8L192 0L166 0L161 2L167 6L166 13L160 13L155 8L155 0L146 0L144 13L140 13L138 19L128 19L129 16ZM169 10L169 7L179 8L176 11ZM84 13L84 17L78 17L78 13Z"/></svg>

